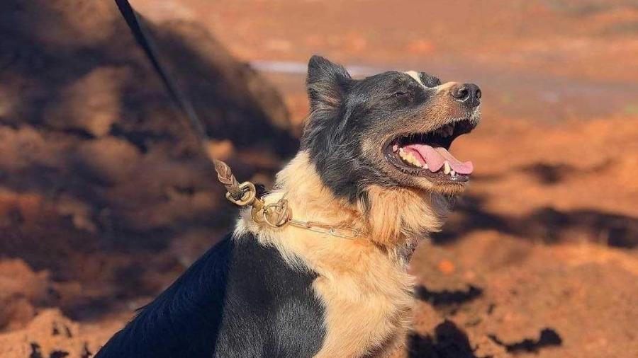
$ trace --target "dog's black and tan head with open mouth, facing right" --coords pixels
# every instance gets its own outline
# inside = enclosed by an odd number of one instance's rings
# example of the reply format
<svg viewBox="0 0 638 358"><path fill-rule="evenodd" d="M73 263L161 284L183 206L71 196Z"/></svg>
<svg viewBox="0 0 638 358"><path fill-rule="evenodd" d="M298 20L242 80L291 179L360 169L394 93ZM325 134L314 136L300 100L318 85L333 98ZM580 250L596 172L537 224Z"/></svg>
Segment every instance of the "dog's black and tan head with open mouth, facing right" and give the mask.
<svg viewBox="0 0 638 358"><path fill-rule="evenodd" d="M302 149L335 195L356 200L370 185L447 194L464 189L472 164L454 158L449 147L478 125L475 84L441 83L415 71L356 80L313 56L307 85Z"/></svg>

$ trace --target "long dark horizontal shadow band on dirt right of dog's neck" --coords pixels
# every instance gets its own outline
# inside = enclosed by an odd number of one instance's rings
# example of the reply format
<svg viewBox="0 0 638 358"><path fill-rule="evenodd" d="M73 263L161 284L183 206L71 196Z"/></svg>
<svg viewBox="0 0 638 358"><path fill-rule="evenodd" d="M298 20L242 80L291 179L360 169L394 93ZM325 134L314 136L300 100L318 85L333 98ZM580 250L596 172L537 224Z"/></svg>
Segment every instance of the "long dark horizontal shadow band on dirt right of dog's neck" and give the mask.
<svg viewBox="0 0 638 358"><path fill-rule="evenodd" d="M544 243L586 237L617 248L638 246L638 218L632 216L593 209L542 207L527 216L515 217L486 211L484 200L476 195L464 197L446 228L434 236L435 242L450 242L476 230L496 230Z"/></svg>

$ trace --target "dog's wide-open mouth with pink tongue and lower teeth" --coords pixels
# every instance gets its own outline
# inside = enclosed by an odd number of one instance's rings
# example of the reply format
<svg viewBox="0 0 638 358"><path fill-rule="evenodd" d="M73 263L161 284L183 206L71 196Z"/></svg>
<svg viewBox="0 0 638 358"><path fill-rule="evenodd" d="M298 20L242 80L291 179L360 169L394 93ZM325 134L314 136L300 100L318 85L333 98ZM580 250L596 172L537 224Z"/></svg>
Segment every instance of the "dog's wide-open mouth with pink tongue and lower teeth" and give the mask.
<svg viewBox="0 0 638 358"><path fill-rule="evenodd" d="M471 132L474 120L453 120L432 132L406 133L386 144L388 161L403 173L438 181L464 183L474 170L471 161L459 161L449 153L454 139Z"/></svg>

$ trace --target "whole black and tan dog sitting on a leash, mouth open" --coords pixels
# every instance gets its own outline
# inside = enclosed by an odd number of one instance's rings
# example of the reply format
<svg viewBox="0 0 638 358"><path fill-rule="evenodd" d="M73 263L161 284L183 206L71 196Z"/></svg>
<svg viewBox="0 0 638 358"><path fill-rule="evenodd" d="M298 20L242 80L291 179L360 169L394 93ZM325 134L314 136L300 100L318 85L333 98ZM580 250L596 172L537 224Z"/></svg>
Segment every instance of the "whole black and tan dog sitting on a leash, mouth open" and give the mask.
<svg viewBox="0 0 638 358"><path fill-rule="evenodd" d="M362 234L273 228L244 212L96 357L386 357L401 347L406 265L469 180L471 162L448 149L478 124L481 91L415 71L355 80L315 56L308 96L301 151L264 199Z"/></svg>

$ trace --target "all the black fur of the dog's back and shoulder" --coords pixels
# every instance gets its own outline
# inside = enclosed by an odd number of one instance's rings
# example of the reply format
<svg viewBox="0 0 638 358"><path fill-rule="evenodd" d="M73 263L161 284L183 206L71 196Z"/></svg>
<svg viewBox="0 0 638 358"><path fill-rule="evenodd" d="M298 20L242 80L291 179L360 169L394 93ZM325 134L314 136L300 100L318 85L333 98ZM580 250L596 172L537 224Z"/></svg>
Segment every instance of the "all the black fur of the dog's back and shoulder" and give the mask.
<svg viewBox="0 0 638 358"><path fill-rule="evenodd" d="M252 234L227 236L96 358L312 357L325 335L314 278Z"/></svg>

